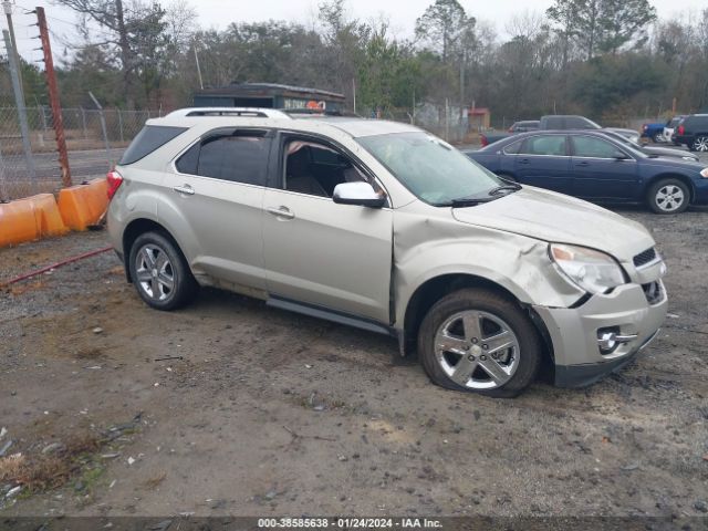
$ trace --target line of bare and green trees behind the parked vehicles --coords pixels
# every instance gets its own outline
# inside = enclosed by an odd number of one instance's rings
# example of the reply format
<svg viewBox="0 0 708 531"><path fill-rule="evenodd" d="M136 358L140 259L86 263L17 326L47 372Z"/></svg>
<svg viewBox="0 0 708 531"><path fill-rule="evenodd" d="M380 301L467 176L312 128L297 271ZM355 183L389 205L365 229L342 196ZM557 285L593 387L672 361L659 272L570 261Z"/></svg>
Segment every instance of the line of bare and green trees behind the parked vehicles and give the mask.
<svg viewBox="0 0 708 531"><path fill-rule="evenodd" d="M457 0L435 0L415 33L352 17L323 0L309 23L195 24L186 0L55 0L77 17L55 42L64 106L174 108L200 86L272 82L344 93L357 111L384 116L417 103L489 107L496 122L549 113L606 123L708 107L708 9L659 20L649 0L554 0L499 33ZM50 19L51 22L51 19ZM54 38L56 40L56 38ZM4 66L3 66L4 67ZM7 70L7 67L6 67ZM46 103L41 71L23 64L29 103ZM0 74L2 104L9 76Z"/></svg>

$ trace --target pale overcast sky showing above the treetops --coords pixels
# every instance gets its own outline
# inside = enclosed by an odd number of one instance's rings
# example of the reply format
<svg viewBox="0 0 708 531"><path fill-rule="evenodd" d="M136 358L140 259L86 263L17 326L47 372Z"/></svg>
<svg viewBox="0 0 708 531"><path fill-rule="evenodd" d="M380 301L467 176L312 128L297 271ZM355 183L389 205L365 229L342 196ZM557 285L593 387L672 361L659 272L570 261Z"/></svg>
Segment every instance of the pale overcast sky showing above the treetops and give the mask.
<svg viewBox="0 0 708 531"><path fill-rule="evenodd" d="M12 1L12 0L11 0ZM350 14L361 19L374 19L382 14L386 17L393 33L399 37L413 34L416 18L433 3L434 0L348 0ZM37 22L33 14L24 14L35 6L44 7L49 18L48 23L52 33L52 48L56 60L61 60L64 45L61 38L75 40L76 30L74 13L65 8L59 8L46 0L14 0L15 33L20 53L27 60L38 60L41 52L33 49L39 41L32 40L37 35L37 28L30 27ZM168 4L169 0L163 1ZM316 17L317 0L190 0L199 13L199 24L206 28L223 29L230 22L258 21L267 19L289 20L309 23ZM552 0L460 0L467 12L479 20L491 22L500 33L503 33L507 21L524 10L543 12ZM697 13L706 8L706 0L670 0L655 1L660 18L670 18L693 11ZM1 28L7 28L4 17ZM73 38L73 39L72 39ZM1 46L0 46L1 48Z"/></svg>

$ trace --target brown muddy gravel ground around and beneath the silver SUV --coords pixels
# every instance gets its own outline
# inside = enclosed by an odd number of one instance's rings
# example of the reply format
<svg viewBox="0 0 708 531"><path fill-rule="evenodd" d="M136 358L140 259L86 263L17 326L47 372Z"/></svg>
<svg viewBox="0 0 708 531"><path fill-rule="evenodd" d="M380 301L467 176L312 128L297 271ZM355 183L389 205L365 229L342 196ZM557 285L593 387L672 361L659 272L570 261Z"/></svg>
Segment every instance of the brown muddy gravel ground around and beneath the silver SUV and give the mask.
<svg viewBox="0 0 708 531"><path fill-rule="evenodd" d="M88 485L0 514L705 516L708 209L620 211L669 266L660 336L590 388L513 400L444 391L389 339L238 295L149 310L113 253L15 284L0 292L0 450L142 415ZM106 243L0 250L0 282Z"/></svg>

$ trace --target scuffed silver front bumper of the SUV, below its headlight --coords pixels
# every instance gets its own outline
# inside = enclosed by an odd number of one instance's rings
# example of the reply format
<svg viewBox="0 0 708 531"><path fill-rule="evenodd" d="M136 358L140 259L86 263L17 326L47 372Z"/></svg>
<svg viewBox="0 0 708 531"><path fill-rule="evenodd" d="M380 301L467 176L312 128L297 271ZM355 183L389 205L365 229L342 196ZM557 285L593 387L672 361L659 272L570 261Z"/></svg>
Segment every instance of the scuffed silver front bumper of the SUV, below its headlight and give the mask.
<svg viewBox="0 0 708 531"><path fill-rule="evenodd" d="M668 306L664 284L658 282L662 295L653 303L642 285L626 284L610 294L594 295L579 308L533 306L553 346L556 386L590 385L622 368L656 337ZM597 332L604 329L633 339L603 353Z"/></svg>

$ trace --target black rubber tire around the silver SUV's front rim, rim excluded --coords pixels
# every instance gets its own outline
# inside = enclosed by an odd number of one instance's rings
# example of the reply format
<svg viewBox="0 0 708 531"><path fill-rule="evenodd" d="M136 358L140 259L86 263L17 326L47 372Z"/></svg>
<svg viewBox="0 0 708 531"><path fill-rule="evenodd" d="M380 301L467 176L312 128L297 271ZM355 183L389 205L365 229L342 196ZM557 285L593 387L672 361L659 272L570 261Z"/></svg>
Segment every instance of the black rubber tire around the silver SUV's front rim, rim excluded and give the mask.
<svg viewBox="0 0 708 531"><path fill-rule="evenodd" d="M438 330L455 314L469 310L486 312L501 319L518 339L518 367L513 376L500 387L470 389L459 385L450 379L438 362L435 352ZM428 311L418 331L418 356L430 379L442 387L476 392L496 398L513 398L535 379L541 364L542 346L535 327L516 302L493 291L464 289L444 296Z"/></svg>

